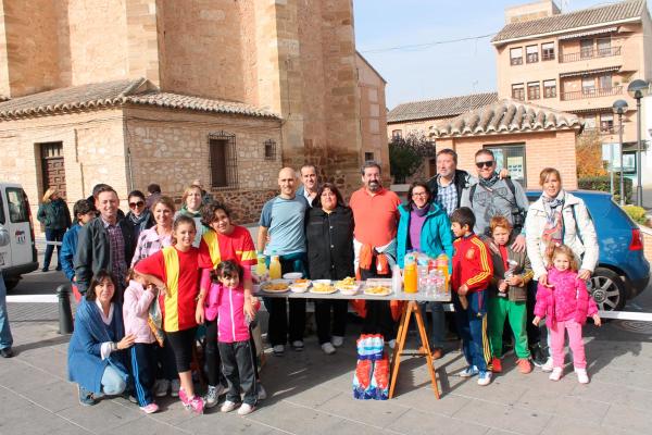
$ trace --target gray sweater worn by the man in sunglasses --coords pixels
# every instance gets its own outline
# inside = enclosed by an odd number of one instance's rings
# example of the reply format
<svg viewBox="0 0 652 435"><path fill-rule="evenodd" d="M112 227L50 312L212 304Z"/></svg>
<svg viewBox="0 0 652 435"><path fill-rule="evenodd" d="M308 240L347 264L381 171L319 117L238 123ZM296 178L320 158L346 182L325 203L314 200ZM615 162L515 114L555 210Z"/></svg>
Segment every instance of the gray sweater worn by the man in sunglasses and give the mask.
<svg viewBox="0 0 652 435"><path fill-rule="evenodd" d="M512 195L512 190L507 186L505 179L497 181L489 189L478 184L475 188L473 200L469 199L472 186L466 187L462 191L461 207L468 207L473 210L476 217L474 232L476 234L485 234L489 231L489 222L491 217L503 215L507 217L511 224L514 224L512 209L514 203L527 211L529 203L525 196L525 190L519 183L514 183L516 198Z"/></svg>

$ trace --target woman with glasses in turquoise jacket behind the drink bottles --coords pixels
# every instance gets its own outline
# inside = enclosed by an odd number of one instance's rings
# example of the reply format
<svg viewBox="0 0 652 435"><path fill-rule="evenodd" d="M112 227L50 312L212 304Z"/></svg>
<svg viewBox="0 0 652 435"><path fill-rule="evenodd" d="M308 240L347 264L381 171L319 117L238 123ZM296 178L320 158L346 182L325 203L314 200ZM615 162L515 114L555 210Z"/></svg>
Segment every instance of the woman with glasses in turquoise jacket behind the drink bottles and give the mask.
<svg viewBox="0 0 652 435"><path fill-rule="evenodd" d="M405 252L418 251L436 258L444 252L453 258L453 234L446 211L430 202L430 189L425 183L415 182L408 191L408 202L399 206L401 219L397 234L397 262L404 268ZM441 302L429 302L432 312L432 358L443 356L444 313Z"/></svg>

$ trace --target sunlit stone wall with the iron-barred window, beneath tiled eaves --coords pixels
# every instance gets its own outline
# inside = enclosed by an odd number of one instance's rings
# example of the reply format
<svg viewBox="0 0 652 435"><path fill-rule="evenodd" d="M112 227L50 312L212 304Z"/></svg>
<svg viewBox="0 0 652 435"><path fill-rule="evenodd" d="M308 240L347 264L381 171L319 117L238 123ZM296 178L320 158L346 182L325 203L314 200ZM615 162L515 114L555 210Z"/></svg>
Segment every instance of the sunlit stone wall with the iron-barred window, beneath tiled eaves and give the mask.
<svg viewBox="0 0 652 435"><path fill-rule="evenodd" d="M196 178L209 188L209 135L236 136L238 187L223 190L275 189L281 166L280 121L131 107L125 109L134 188L158 183L165 195L180 196ZM266 160L264 141L276 141L276 158ZM229 194L230 195L230 194Z"/></svg>

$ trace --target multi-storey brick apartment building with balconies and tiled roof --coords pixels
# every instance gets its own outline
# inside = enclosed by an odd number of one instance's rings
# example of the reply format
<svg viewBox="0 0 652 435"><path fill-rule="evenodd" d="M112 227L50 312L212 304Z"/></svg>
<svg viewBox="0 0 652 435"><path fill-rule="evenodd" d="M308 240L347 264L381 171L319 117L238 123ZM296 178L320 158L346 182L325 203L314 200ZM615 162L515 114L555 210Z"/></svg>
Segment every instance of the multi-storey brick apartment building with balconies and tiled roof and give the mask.
<svg viewBox="0 0 652 435"><path fill-rule="evenodd" d="M652 21L645 1L562 13L554 1L544 0L507 8L505 21L492 39L499 98L575 113L585 132L597 132L603 144L618 142L612 104L624 99L625 150L634 156L636 101L627 85L652 78Z"/></svg>

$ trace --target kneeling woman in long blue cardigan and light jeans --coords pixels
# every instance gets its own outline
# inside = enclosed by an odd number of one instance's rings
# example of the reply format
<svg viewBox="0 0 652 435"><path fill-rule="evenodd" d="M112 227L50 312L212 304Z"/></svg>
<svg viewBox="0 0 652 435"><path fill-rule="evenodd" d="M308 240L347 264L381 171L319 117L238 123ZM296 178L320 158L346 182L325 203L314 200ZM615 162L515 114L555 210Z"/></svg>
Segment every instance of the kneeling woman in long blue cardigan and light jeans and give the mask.
<svg viewBox="0 0 652 435"><path fill-rule="evenodd" d="M127 387L127 353L135 336L125 336L122 307L106 271L98 272L77 308L68 346L68 378L79 386L79 403L91 406L103 395Z"/></svg>

